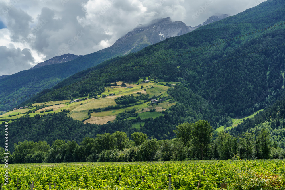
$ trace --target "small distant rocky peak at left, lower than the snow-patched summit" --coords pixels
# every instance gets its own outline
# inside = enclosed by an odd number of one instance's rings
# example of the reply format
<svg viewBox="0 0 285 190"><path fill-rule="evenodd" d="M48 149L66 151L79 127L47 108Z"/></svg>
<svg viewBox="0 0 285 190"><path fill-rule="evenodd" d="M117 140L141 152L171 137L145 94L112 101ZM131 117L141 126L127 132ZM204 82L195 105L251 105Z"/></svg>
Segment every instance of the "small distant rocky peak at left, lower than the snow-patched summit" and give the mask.
<svg viewBox="0 0 285 190"><path fill-rule="evenodd" d="M82 56L82 55L77 56L74 54L63 54L61 56L56 56L56 57L53 57L53 58L46 60L44 62L38 63L37 65L33 66L30 69L36 69L36 68L39 68L39 67L42 67L45 65L53 65L53 64L68 62L68 61L74 60L80 56Z"/></svg>

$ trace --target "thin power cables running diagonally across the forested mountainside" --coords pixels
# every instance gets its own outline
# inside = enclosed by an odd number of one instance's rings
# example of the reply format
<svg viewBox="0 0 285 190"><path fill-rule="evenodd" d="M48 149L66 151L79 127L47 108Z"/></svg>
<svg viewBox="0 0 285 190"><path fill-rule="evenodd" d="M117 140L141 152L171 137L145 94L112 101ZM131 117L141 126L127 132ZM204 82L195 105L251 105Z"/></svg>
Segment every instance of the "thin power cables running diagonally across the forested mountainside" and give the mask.
<svg viewBox="0 0 285 190"><path fill-rule="evenodd" d="M226 42L229 42L229 41L233 41L233 40L236 40L236 39L239 39L239 38L242 38L242 37L245 37L245 36L249 36L251 34L255 34L257 32L261 32L261 31L264 31L264 30L268 30L270 28L274 28L274 27L277 27L277 26L281 26L285 24L285 22L283 23L280 23L280 24L276 24L276 25L273 25L273 26L270 26L270 27L267 27L267 28L263 28L261 30L257 30L255 32L251 32L251 33L248 33L248 34L244 34L242 36L238 36L238 37L235 37L235 38L232 38L232 39L229 39L229 40L225 40L225 41L222 41L222 42L219 42L219 43L216 43L216 44L213 44L213 45L209 45L209 46L205 46L203 48L198 48L196 50L192 50L192 51L189 51L189 52L185 52L185 53L182 53L182 54L178 54L176 56L172 56L172 57L168 57L168 58L165 58L165 59L162 59L162 60L158 60L158 61L155 61L155 62L151 62L151 63L147 63L147 64L144 64L142 66L139 66L139 67L133 67L133 68L129 68L127 70L123 70L123 71L119 71L119 72L115 72L115 73L111 73L111 74L108 74L108 75L105 75L105 76L102 76L102 77L97 77L97 78L94 78L94 79L90 79L90 80L86 80L86 81L82 81L82 82L78 82L78 83L74 83L74 84L71 84L71 85L67 85L67 86L64 86L64 87L61 87L61 88L57 88L57 89L52 89L52 90L48 90L48 91L42 91L40 93L35 93L35 94L32 94L32 95L27 95L27 96L23 96L23 97L19 97L19 98L15 98L15 99L11 99L11 100L8 100L8 101L3 101L3 102L0 102L0 104L3 104L3 103L7 103L7 102L11 102L11 101L15 101L15 100L19 100L19 99L23 99L23 98L28 98L28 97L33 97L33 96L36 96L36 95L40 95L40 94L44 94L44 93L49 93L49 92L53 92L53 91L56 91L56 90L60 90L60 89L65 89L65 88L68 88L68 87L72 87L72 86L75 86L75 85L79 85L79 84L83 84L83 83L87 83L89 81L94 81L94 80L98 80L98 79L101 79L101 78L106 78L106 77L109 77L109 76L112 76L112 75L115 75L115 74L119 74L119 73L124 73L124 72L127 72L127 71L131 71L131 70L135 70L137 68L140 68L140 67L144 67L144 66L149 66L149 65L152 65L152 64L155 64L155 63L158 63L158 62L162 62L162 61L166 61L166 60L170 60L172 58L176 58L176 57L179 57L179 56L183 56L183 55L186 55L186 54L190 54L190 53L193 53L193 52L197 52L199 50L203 50L203 49L206 49L206 48L210 48L210 47L213 47L213 46L216 46L216 45L220 45L220 44L224 44ZM282 44L284 45L284 44ZM281 45L280 45L281 46ZM278 47L278 46L275 46L275 47ZM272 47L274 48L274 47ZM270 49L270 48L269 48ZM266 49L264 49L266 50ZM259 52L259 51L258 51ZM248 55L248 54L247 54ZM222 61L221 61L222 62ZM213 63L214 64L214 63ZM210 64L208 64L210 65ZM207 66L207 65L205 65ZM202 67L202 66L200 66ZM199 67L197 67L199 68ZM192 69L196 69L196 68L192 68ZM191 70L192 70L191 69ZM185 70L187 71L187 70ZM179 71L179 72L182 72L182 71ZM177 73L179 73L177 72ZM175 73L172 73L172 74L175 74ZM172 75L172 74L169 74L169 75ZM168 75L165 75L165 76L168 76ZM162 76L164 77L164 76ZM133 83L135 84L135 83Z"/></svg>

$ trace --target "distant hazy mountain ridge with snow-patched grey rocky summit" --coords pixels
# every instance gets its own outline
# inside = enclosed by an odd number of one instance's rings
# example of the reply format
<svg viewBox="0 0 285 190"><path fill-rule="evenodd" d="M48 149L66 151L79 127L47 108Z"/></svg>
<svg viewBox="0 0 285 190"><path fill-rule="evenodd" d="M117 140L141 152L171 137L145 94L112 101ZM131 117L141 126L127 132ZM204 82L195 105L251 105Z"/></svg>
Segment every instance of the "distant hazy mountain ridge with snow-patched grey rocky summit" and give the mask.
<svg viewBox="0 0 285 190"><path fill-rule="evenodd" d="M3 89L0 92L0 102L2 102L0 110L12 109L29 97L18 98L49 89L63 79L96 66L105 60L123 56L130 52L137 52L165 38L185 34L189 31L189 27L183 22L172 22L169 17L158 19L128 32L128 34L117 40L114 45L98 52L77 58L70 54L58 56L46 60L30 70L9 75L0 80L0 89ZM72 60L63 62L68 59ZM53 64L50 65L49 63ZM10 101L11 99L16 100Z"/></svg>

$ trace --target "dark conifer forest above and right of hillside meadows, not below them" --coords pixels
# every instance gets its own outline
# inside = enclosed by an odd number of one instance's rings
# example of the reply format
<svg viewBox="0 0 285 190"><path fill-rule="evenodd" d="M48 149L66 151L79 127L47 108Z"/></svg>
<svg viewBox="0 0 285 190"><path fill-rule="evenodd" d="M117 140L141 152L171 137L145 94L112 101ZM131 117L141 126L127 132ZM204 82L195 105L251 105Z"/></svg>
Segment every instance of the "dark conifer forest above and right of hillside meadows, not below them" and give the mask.
<svg viewBox="0 0 285 190"><path fill-rule="evenodd" d="M90 68L69 77L53 88L61 89L39 97L36 102L99 93L98 89L106 83L136 82L139 77L150 76L158 82L180 81L186 87L177 86L169 91L181 104L176 106L187 107L188 113L180 117L192 120L203 117L217 127L225 114L250 114L272 104L283 92L284 24L210 48L199 48L280 24L285 21L284 8L284 1L266 1L199 30L103 62L101 66L105 67ZM184 55L166 59L179 54ZM162 59L165 60L149 64ZM207 64L210 65L203 67ZM73 85L79 81L80 84ZM62 88L66 85L72 87ZM192 102L193 97L198 101Z"/></svg>

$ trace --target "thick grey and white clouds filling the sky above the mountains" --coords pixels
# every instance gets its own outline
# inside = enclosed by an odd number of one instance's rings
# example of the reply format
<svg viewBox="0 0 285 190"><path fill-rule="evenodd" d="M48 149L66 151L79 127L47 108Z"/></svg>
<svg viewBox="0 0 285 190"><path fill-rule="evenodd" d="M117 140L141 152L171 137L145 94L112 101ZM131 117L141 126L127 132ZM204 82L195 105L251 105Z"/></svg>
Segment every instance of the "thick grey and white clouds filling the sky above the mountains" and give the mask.
<svg viewBox="0 0 285 190"><path fill-rule="evenodd" d="M99 51L153 19L171 17L197 26L217 13L235 15L263 1L1 0L0 75L65 53Z"/></svg>

